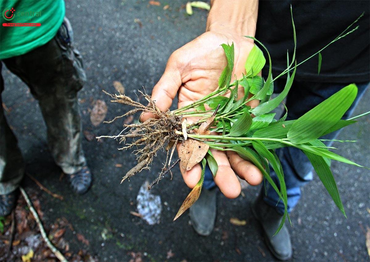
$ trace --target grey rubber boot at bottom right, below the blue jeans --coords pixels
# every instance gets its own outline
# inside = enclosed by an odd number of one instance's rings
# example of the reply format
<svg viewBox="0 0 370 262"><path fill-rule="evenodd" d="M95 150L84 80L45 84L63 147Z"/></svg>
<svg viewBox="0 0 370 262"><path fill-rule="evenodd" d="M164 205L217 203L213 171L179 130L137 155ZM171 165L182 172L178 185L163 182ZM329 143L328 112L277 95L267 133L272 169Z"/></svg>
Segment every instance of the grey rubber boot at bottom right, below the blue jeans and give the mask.
<svg viewBox="0 0 370 262"><path fill-rule="evenodd" d="M258 196L252 205L252 213L262 225L265 241L272 254L282 261L292 257L292 243L286 225L280 229L279 233L273 236L279 228L283 216L275 208L263 201L262 194Z"/></svg>

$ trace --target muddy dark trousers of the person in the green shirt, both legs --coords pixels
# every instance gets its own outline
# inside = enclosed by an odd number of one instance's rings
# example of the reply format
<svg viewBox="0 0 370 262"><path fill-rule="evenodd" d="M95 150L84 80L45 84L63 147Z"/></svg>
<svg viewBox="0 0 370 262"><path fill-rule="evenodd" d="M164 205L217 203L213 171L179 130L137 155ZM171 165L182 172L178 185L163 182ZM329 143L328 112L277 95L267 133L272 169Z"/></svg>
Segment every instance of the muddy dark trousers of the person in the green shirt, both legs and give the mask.
<svg viewBox="0 0 370 262"><path fill-rule="evenodd" d="M86 76L80 54L72 47L72 35L69 21L65 19L57 35L48 43L21 56L1 61L28 85L38 100L46 122L51 154L66 174L73 174L86 165L77 103L77 92L83 87ZM1 75L1 93L3 90ZM17 189L23 175L21 151L1 107L0 194Z"/></svg>

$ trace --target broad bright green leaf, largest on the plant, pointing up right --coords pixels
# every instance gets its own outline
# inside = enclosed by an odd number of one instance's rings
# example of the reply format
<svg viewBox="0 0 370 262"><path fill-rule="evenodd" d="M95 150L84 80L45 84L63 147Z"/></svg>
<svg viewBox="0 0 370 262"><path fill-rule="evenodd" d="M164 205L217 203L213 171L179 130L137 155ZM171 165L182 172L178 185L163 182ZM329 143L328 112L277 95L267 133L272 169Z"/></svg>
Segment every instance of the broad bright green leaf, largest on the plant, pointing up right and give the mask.
<svg viewBox="0 0 370 262"><path fill-rule="evenodd" d="M357 95L355 84L347 85L298 118L287 133L293 144L303 144L324 134L348 110Z"/></svg>

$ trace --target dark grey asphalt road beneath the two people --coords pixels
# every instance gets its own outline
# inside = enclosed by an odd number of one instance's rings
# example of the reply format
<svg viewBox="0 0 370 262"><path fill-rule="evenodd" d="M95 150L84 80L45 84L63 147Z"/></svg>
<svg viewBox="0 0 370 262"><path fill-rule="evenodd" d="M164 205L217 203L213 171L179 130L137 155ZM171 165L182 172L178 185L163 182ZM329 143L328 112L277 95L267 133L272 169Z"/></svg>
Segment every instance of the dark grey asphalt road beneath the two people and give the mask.
<svg viewBox="0 0 370 262"><path fill-rule="evenodd" d="M141 1L67 1L67 16L74 27L75 47L84 58L88 83L80 92L83 128L93 135L117 134L122 122L100 124L90 121L92 103L107 103L111 119L127 107L109 103L101 90L114 92L113 81L120 81L126 94L136 97L137 90L151 91L161 76L172 51L194 39L205 29L207 11L194 10L187 16L184 1L161 2L160 6ZM169 8L163 7L169 4ZM135 20L139 19L139 20ZM59 181L61 170L55 166L47 149L46 127L37 102L25 84L3 68L3 101L10 125L19 138L27 162L27 171L51 191L64 195L60 201L43 193L41 208L44 221L64 216L75 232L66 232L71 249L87 249L101 261L128 261L131 253L140 253L144 261L273 261L263 242L261 231L250 212L250 201L259 187L243 189L244 195L226 199L218 195L215 231L208 237L198 236L189 224L188 213L172 222L189 189L178 169L174 179L165 179L152 189L162 199L159 224L148 225L130 211L136 211L136 196L145 179L152 181L161 168L161 156L150 171L120 184L121 177L135 163L131 152L117 151L117 141L83 140L94 185L88 194L77 197L70 192L68 181ZM355 114L369 111L370 92ZM363 117L339 136L356 143L335 143L340 154L361 165L370 166L370 118ZM122 167L116 167L121 164ZM294 254L292 261L369 261L365 245L370 227L370 172L333 161L332 171L346 208L347 219L336 208L320 180L303 188L302 201L291 215L290 233ZM27 182L28 187L36 187ZM246 220L245 226L232 225L230 218ZM75 237L83 234L86 246ZM69 234L69 235L68 235Z"/></svg>

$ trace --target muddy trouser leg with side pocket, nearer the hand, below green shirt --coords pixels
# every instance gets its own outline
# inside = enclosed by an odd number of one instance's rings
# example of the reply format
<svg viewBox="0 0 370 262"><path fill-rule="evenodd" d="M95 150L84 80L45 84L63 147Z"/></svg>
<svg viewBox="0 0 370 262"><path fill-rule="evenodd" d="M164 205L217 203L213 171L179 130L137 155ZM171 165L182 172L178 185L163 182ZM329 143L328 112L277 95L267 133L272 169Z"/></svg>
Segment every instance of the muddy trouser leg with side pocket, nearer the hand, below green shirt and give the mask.
<svg viewBox="0 0 370 262"><path fill-rule="evenodd" d="M86 164L77 103L77 92L86 76L80 54L71 43L71 30L65 20L57 35L44 46L4 60L38 100L51 154L66 174L77 172Z"/></svg>

